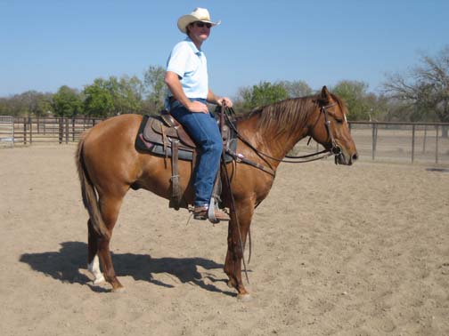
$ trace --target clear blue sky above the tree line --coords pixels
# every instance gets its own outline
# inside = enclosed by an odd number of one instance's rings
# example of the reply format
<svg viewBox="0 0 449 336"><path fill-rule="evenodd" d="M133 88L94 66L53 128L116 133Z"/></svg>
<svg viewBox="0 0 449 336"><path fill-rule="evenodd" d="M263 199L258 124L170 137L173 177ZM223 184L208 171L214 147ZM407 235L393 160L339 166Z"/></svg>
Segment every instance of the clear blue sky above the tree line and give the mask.
<svg viewBox="0 0 449 336"><path fill-rule="evenodd" d="M313 89L357 80L376 92L386 73L449 44L447 0L0 0L0 96L143 78L165 66L184 38L177 19L195 7L222 20L203 50L211 89L231 97L278 80Z"/></svg>

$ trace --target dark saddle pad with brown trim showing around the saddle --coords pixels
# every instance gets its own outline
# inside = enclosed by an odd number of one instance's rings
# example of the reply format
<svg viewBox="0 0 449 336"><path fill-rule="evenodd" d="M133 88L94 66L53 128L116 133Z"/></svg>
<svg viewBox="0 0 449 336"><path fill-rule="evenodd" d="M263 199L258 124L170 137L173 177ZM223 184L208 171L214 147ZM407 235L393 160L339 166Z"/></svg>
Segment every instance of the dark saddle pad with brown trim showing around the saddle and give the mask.
<svg viewBox="0 0 449 336"><path fill-rule="evenodd" d="M145 129L145 125L148 122L148 119L152 118L152 116L143 116L142 124L139 127L139 132L137 132L137 136L135 137L135 149L141 152L150 153L156 156L167 156L171 157L172 152L170 148L169 142L167 143L167 153L164 150L164 146L159 143L159 141L149 141L143 138L143 130ZM235 133L231 133L231 139L229 140L229 148L235 152L237 148L237 138ZM194 148L189 148L189 150L184 148L179 148L178 158L184 161L192 161L193 160L193 151ZM227 163L233 161L232 156L224 155L224 160Z"/></svg>

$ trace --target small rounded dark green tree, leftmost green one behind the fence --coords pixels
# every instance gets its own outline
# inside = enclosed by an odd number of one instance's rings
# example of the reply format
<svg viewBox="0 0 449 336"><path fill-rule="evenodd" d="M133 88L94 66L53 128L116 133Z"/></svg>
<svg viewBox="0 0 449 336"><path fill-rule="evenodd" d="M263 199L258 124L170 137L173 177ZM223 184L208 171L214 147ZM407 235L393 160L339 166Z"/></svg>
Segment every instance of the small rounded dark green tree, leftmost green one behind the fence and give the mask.
<svg viewBox="0 0 449 336"><path fill-rule="evenodd" d="M78 116L83 114L83 100L76 89L62 85L53 94L53 110L56 116Z"/></svg>

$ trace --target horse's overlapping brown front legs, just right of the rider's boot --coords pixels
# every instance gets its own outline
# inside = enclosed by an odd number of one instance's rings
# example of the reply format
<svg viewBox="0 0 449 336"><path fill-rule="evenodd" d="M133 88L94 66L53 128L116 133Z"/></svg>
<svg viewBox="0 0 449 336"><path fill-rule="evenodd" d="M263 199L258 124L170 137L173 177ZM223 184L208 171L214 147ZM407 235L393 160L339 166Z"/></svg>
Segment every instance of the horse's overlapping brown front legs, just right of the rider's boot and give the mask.
<svg viewBox="0 0 449 336"><path fill-rule="evenodd" d="M237 213L232 214L228 228L228 250L224 261L224 273L229 277L228 285L234 287L239 299L249 299L249 292L246 290L241 279L241 261L243 259L243 249L248 236L249 225L251 224L254 206L252 204L236 204ZM239 226L240 229L239 229Z"/></svg>

